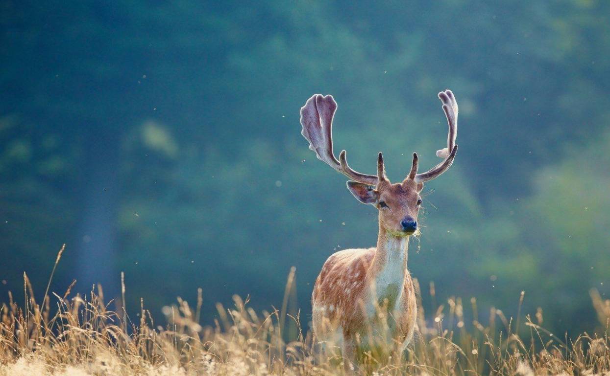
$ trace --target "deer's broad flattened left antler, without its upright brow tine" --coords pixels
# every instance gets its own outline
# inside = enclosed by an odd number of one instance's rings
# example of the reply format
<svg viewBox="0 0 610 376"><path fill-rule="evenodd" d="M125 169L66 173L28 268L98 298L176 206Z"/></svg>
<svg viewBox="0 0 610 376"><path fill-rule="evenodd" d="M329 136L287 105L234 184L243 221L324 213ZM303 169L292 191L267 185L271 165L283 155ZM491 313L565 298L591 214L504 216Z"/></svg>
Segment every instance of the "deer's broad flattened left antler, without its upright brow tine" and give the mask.
<svg viewBox="0 0 610 376"><path fill-rule="evenodd" d="M376 186L378 178L375 175L365 175L356 172L347 164L346 151L341 151L340 161L332 151L332 118L337 110L337 102L331 95L315 94L301 107L301 125L303 137L309 141L309 148L315 151L320 161L359 183Z"/></svg>

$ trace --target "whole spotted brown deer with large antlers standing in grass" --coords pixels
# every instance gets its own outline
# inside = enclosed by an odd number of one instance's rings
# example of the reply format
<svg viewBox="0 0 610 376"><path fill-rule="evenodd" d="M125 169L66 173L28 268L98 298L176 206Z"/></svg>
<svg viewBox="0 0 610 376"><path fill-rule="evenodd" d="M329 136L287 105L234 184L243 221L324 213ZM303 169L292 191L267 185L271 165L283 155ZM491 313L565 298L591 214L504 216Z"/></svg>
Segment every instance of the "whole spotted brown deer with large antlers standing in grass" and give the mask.
<svg viewBox="0 0 610 376"><path fill-rule="evenodd" d="M384 341L397 344L400 350L413 336L417 305L407 271L409 236L418 232L423 183L447 171L458 151L455 144L458 103L448 89L439 92L439 99L449 125L447 148L436 152L443 161L426 172L417 173L417 153L413 153L411 172L395 184L386 177L381 153L377 159L377 175L351 169L345 150L339 154L339 160L334 156L332 118L337 103L332 96L315 94L301 108L302 133L309 141L309 148L318 159L351 179L347 187L354 197L379 210L377 246L332 254L324 263L312 293L314 334L322 341L334 338L342 343L348 368L349 362L356 360L356 349L366 349L372 344L371 336L384 331Z"/></svg>

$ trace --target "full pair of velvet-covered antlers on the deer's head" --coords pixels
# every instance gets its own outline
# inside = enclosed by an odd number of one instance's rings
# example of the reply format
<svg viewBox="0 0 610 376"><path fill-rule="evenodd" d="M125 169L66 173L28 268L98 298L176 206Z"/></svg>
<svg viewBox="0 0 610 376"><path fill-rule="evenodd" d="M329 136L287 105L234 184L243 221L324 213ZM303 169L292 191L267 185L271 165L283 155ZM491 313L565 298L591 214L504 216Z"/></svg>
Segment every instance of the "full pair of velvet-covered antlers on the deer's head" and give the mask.
<svg viewBox="0 0 610 376"><path fill-rule="evenodd" d="M447 171L451 164L453 164L453 159L458 151L458 145L455 145L458 134L458 103L453 96L453 92L449 89L439 92L439 99L443 102L443 111L445 111L445 116L447 116L449 134L447 136L447 148L438 150L436 155L445 159L435 167L432 167L432 169L424 173L417 173L417 154L414 153L411 172L406 179L414 179L417 183L432 180ZM339 154L339 160L335 157L332 151L332 118L336 110L337 102L335 102L332 96L315 94L310 97L301 108L301 125L303 125L301 134L309 141L309 148L315 151L318 159L326 162L333 169L350 179L359 183L377 186L381 180L386 179L381 153L378 156L377 176L367 175L351 169L347 163L345 150L342 150Z"/></svg>

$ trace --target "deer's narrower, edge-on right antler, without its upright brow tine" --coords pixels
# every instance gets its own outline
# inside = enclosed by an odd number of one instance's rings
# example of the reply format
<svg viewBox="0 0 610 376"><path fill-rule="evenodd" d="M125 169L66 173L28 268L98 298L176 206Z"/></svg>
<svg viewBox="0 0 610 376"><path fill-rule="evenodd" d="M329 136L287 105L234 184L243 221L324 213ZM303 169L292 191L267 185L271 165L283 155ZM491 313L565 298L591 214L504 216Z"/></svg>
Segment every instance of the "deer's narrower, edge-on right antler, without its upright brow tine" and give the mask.
<svg viewBox="0 0 610 376"><path fill-rule="evenodd" d="M424 183L437 178L440 174L447 171L453 159L458 152L458 145L455 144L456 137L458 136L458 102L456 102L455 96L450 89L439 92L439 99L443 102L443 111L447 117L447 124L449 127L447 135L447 147L436 151L436 155L440 158L445 158L442 162L432 167L432 169L418 173L415 175L415 181L417 183ZM411 176L411 174L409 174Z"/></svg>

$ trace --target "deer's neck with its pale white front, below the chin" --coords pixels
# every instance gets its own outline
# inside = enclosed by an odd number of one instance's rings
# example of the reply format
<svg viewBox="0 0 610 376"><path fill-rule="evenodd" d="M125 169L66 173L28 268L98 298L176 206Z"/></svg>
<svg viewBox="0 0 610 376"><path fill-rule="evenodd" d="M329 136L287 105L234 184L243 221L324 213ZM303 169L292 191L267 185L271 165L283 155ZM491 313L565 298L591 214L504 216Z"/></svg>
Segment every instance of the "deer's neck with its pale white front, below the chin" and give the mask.
<svg viewBox="0 0 610 376"><path fill-rule="evenodd" d="M388 299L393 305L400 296L407 273L408 243L409 237L397 237L379 227L377 251L370 269L379 301Z"/></svg>

